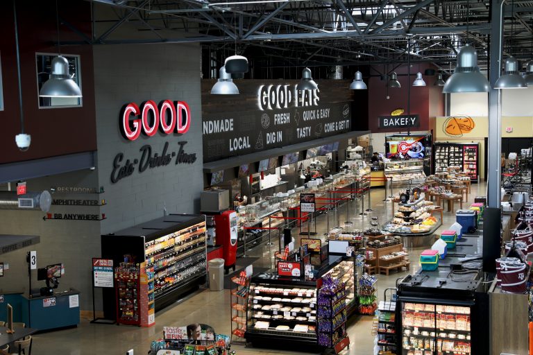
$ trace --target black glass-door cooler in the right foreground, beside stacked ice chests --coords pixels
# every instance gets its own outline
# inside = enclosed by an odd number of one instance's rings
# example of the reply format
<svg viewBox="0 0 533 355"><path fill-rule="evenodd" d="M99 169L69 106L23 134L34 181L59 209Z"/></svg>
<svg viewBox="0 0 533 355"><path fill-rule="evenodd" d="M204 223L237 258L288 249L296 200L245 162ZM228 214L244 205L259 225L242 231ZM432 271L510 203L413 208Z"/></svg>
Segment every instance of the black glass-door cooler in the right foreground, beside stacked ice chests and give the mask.
<svg viewBox="0 0 533 355"><path fill-rule="evenodd" d="M398 355L489 354L487 293L477 291L479 279L466 274L454 282L449 272L407 277L398 286Z"/></svg>

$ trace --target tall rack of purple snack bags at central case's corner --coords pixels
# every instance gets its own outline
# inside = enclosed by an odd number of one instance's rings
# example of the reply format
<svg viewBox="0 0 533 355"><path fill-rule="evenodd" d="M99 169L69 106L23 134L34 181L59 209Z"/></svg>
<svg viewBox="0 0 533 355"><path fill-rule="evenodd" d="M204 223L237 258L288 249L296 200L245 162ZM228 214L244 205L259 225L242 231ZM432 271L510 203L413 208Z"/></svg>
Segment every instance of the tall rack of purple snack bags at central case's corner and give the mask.
<svg viewBox="0 0 533 355"><path fill-rule="evenodd" d="M318 341L323 347L335 348L346 343L346 290L343 282L323 278L318 295ZM348 347L349 347L349 341ZM343 346L344 347L344 346Z"/></svg>

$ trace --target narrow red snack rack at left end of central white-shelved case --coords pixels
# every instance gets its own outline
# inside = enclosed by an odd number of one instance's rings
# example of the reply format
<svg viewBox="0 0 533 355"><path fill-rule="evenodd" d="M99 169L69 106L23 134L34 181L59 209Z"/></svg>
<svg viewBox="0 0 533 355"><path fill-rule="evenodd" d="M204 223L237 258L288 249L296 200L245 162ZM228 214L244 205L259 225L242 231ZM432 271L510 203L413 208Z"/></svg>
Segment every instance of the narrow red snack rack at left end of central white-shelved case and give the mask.
<svg viewBox="0 0 533 355"><path fill-rule="evenodd" d="M246 343L246 312L248 311L248 292L250 290L250 277L242 271L239 277L231 278L231 342Z"/></svg>

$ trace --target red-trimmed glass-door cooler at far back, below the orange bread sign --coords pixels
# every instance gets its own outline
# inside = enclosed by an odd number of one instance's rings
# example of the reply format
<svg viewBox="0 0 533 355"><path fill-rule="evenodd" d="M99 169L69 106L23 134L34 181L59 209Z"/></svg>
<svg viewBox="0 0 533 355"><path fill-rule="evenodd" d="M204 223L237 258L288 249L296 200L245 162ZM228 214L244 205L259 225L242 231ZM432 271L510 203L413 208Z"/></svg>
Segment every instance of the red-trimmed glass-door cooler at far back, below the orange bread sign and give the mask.
<svg viewBox="0 0 533 355"><path fill-rule="evenodd" d="M480 146L477 143L439 143L434 144L434 173L440 173L448 166L459 166L468 174L472 182L480 175Z"/></svg>

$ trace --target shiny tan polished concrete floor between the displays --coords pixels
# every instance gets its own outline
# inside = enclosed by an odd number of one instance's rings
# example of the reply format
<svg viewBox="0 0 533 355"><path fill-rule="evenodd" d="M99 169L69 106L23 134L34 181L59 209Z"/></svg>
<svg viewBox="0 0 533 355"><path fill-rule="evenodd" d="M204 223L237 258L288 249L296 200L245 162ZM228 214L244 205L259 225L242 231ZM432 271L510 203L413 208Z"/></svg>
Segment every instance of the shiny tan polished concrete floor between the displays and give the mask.
<svg viewBox="0 0 533 355"><path fill-rule="evenodd" d="M468 202L473 202L475 196L485 196L486 184L473 184L472 191L468 195ZM396 191L395 191L396 192ZM391 218L390 202L383 202L383 189L373 189L371 191L371 208L373 211L367 216L359 216L361 211L361 200L350 202L350 214L346 205L341 206L337 213L339 220L344 223L346 220L353 222L353 225L346 226L355 229L370 227L370 218L377 216L381 223ZM364 200L364 209L368 208L368 197ZM459 206L457 205L456 209ZM323 236L329 225L336 225L335 211L329 216L322 215L316 218L317 236ZM455 222L455 214L444 212L442 230ZM314 229L314 226L312 226ZM437 232L439 232L439 230ZM298 230L294 230L293 235L299 238ZM277 245L277 240L273 240ZM299 245L296 243L296 245ZM250 257L260 257L254 265L256 267L269 267L273 263L272 254L275 247L260 245L253 250L248 250L246 254ZM412 261L411 270L414 272L420 267L418 256L424 248L409 248L409 256ZM378 275L378 297L382 300L386 288L394 288L396 279L405 277L409 272L392 272L388 277ZM83 297L83 295L81 296ZM230 293L224 291L209 291L202 288L200 291L187 297L185 300L177 302L174 306L169 306L164 311L156 313L155 326L150 328L139 328L130 326L116 326L108 324L91 324L89 320L81 320L81 324L74 329L52 331L34 336L33 355L49 354L125 354L128 349L133 349L135 354L147 354L152 340L162 337L162 327L164 326L185 326L187 324L201 322L211 324L217 333L230 334ZM373 354L374 337L371 335L373 317L369 315L355 315L348 322L348 336L350 337L350 355L370 355ZM278 350L254 349L235 345L233 347L237 354L278 354ZM285 352L291 354L291 352ZM303 354L303 353L294 353Z"/></svg>

